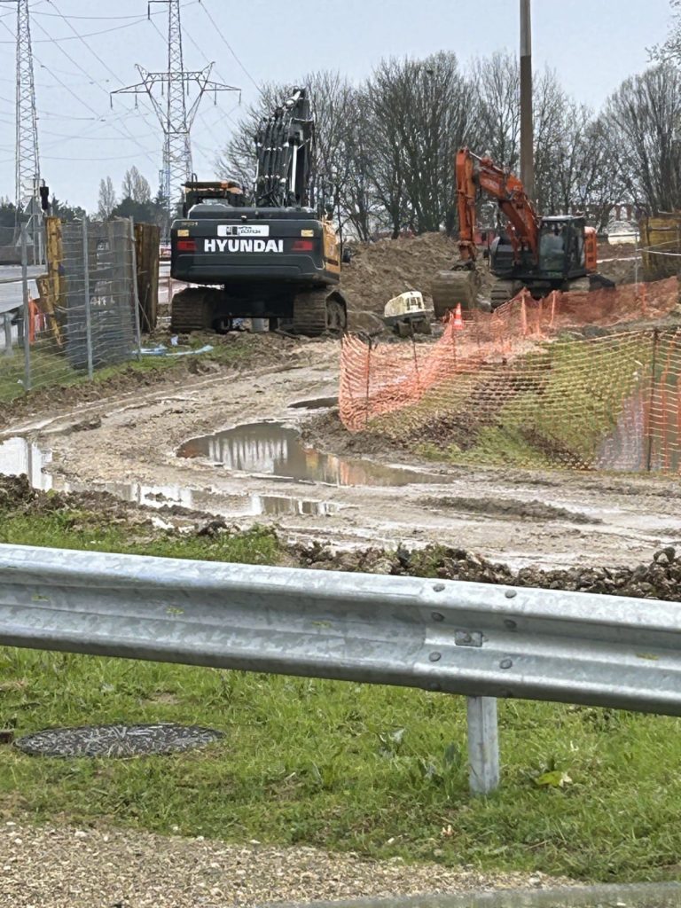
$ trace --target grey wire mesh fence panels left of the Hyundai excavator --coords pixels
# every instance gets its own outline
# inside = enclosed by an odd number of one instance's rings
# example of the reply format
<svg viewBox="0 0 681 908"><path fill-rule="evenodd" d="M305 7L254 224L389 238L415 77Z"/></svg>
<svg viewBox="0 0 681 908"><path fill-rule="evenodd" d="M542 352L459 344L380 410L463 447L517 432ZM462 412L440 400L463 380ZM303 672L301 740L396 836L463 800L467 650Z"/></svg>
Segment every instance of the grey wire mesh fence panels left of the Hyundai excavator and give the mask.
<svg viewBox="0 0 681 908"><path fill-rule="evenodd" d="M22 240L24 264L0 269L0 400L140 355L132 222L48 219L43 266Z"/></svg>

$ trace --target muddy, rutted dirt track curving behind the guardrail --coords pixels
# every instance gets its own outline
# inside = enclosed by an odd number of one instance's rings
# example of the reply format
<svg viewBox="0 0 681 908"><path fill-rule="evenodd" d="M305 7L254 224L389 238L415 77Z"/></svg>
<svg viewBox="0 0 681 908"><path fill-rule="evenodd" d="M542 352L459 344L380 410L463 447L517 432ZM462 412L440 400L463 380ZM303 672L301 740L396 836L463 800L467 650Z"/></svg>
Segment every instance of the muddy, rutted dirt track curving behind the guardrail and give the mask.
<svg viewBox="0 0 681 908"><path fill-rule="evenodd" d="M668 479L448 467L375 442L362 457L323 409L337 393L338 353L336 341L307 342L283 363L166 376L17 419L0 439L0 471L15 459L38 488L113 492L163 508L170 523L174 509L339 548L442 543L513 568L633 565L681 540L679 484Z"/></svg>

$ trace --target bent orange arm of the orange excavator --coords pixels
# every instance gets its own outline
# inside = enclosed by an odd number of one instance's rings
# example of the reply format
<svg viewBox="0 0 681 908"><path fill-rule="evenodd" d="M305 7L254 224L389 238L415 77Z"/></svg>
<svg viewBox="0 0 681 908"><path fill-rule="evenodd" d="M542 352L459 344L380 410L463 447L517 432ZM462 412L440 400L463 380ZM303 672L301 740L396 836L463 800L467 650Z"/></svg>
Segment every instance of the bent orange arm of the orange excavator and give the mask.
<svg viewBox="0 0 681 908"><path fill-rule="evenodd" d="M517 260L523 249L538 258L539 220L525 187L517 176L497 167L490 158L479 158L468 148L457 154L457 201L459 206L459 252L462 262L475 262L475 202L478 190L496 199L508 219L508 237Z"/></svg>

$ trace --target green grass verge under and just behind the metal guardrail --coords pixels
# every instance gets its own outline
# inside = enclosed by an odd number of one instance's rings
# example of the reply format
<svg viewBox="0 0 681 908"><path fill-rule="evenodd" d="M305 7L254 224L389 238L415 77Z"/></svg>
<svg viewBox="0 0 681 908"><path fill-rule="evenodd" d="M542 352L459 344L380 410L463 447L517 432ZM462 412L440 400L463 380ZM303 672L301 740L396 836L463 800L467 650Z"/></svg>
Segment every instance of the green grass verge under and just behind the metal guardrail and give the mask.
<svg viewBox="0 0 681 908"><path fill-rule="evenodd" d="M29 508L30 510L30 508ZM57 508L9 511L0 541L280 563L276 538L181 537ZM424 570L427 566L424 565ZM0 727L173 721L192 754L58 760L0 745L0 817L117 824L233 842L598 881L681 872L681 721L501 702L503 784L469 795L465 701L379 686L0 650ZM540 785L555 773L562 787Z"/></svg>

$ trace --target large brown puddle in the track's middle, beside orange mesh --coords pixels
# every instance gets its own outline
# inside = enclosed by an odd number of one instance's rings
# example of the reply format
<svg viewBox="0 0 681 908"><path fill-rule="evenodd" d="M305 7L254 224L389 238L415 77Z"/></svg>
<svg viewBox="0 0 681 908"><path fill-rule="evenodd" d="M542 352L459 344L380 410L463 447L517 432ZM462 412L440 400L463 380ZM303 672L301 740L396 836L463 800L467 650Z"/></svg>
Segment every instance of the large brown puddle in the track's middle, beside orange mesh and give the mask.
<svg viewBox="0 0 681 908"><path fill-rule="evenodd" d="M281 422L254 422L191 439L178 457L206 458L225 469L331 486L408 486L442 482L417 470L345 459L305 445L298 429Z"/></svg>

